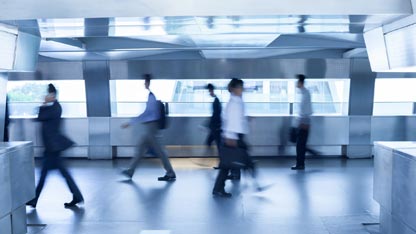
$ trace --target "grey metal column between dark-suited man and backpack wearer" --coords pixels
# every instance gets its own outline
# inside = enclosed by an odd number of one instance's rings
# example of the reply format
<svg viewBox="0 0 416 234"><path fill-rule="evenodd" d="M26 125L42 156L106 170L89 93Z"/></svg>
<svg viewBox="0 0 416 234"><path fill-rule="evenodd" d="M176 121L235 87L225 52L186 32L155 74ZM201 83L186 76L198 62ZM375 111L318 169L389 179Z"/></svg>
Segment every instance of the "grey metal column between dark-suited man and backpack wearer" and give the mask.
<svg viewBox="0 0 416 234"><path fill-rule="evenodd" d="M111 159L108 62L85 61L83 65L89 126L88 157L90 159Z"/></svg>

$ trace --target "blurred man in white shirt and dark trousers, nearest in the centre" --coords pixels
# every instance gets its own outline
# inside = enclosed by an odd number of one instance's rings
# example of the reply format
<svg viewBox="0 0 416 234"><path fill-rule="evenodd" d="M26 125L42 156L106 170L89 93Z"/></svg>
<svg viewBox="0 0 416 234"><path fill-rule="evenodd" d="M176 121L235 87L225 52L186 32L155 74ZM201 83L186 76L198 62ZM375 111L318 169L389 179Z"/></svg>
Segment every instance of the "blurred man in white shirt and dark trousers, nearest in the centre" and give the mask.
<svg viewBox="0 0 416 234"><path fill-rule="evenodd" d="M225 192L225 181L231 168L225 165L224 161L228 155L226 152L238 153L238 163L242 168L249 169L255 176L254 163L248 155L248 145L245 142L245 135L248 133L248 121L245 116L245 107L242 99L244 82L241 79L233 78L228 86L231 93L223 114L223 138L225 146L220 148L220 171L213 189L214 196L231 197L231 193ZM226 150L228 149L228 150ZM231 149L231 150L230 150ZM234 152L232 152L234 151ZM231 155L229 155L231 156ZM236 162L237 163L237 162ZM240 170L238 169L238 172Z"/></svg>

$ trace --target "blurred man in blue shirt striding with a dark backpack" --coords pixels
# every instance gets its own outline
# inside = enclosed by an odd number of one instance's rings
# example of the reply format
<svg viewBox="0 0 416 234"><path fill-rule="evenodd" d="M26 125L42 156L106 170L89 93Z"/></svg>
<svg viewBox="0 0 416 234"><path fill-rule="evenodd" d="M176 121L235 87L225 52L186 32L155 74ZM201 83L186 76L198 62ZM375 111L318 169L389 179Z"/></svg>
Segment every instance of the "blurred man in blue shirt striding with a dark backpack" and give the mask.
<svg viewBox="0 0 416 234"><path fill-rule="evenodd" d="M174 181L176 180L175 171L172 168L166 151L157 139L159 129L165 127L162 126L165 125L165 123L161 123L162 120L165 120L165 116L163 116L165 113L162 113L162 108L164 108L163 103L157 101L155 95L150 91L151 78L152 77L150 74L144 75L144 85L145 88L149 91L145 111L138 117L132 118L130 122L121 126L122 128L128 128L133 124L141 123L144 128L138 142L135 157L132 159L129 168L123 170L121 173L131 179L134 175L136 167L140 162L140 159L143 157L146 150L150 148L162 160L163 167L166 170L165 176L159 177L158 180Z"/></svg>

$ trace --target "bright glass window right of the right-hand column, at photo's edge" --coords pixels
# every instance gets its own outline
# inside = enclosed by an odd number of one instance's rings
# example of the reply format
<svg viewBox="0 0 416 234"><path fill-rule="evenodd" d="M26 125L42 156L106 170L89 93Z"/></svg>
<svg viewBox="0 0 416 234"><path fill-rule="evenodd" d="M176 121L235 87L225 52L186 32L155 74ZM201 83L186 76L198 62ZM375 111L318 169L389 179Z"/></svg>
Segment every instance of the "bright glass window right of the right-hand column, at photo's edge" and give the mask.
<svg viewBox="0 0 416 234"><path fill-rule="evenodd" d="M376 79L373 115L413 115L416 79Z"/></svg>

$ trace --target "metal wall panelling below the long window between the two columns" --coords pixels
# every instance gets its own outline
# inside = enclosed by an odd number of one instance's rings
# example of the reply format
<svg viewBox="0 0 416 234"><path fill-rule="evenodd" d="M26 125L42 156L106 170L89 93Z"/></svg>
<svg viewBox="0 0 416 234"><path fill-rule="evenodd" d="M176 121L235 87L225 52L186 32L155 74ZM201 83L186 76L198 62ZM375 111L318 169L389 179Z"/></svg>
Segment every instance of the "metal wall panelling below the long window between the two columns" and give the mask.
<svg viewBox="0 0 416 234"><path fill-rule="evenodd" d="M204 142L208 133L199 127L206 120L206 117L171 117L169 128L161 133L161 141L167 146L169 155L175 157L213 156L205 152ZM111 145L117 147L117 157L134 155L134 146L140 134L140 125L135 128L121 129L121 124L127 121L129 121L128 118L111 118L110 120ZM291 126L291 117L251 118L250 134L247 140L252 147L253 155L294 155L294 150L288 150L291 147L285 147L293 145L288 142ZM348 131L348 117L314 116L309 145L320 148L324 155L341 155L341 146L348 144Z"/></svg>

